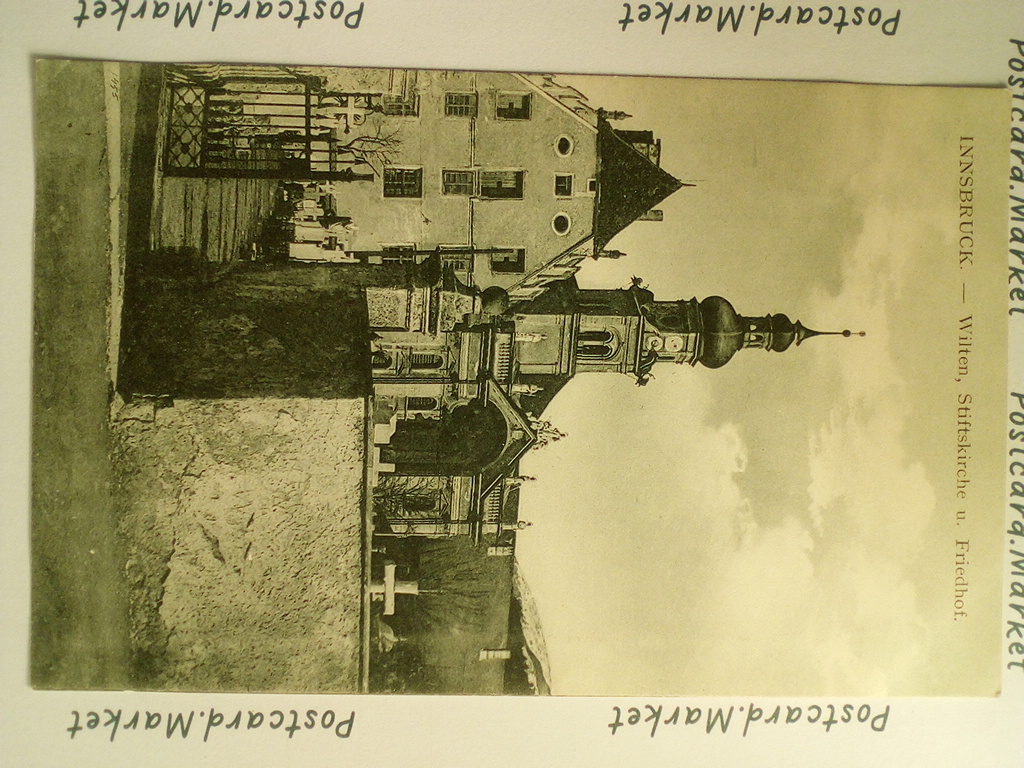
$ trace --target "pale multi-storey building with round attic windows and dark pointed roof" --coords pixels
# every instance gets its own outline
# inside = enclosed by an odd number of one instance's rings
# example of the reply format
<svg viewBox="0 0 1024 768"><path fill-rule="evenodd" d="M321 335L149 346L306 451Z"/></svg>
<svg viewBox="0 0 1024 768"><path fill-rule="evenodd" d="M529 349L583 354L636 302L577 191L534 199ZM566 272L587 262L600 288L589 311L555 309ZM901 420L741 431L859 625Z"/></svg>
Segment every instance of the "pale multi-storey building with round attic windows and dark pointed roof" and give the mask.
<svg viewBox="0 0 1024 768"><path fill-rule="evenodd" d="M613 129L623 113L551 76L336 70L325 87L312 150L354 172L322 184L340 239L319 239L361 261L440 251L463 282L528 299L682 185L650 131Z"/></svg>

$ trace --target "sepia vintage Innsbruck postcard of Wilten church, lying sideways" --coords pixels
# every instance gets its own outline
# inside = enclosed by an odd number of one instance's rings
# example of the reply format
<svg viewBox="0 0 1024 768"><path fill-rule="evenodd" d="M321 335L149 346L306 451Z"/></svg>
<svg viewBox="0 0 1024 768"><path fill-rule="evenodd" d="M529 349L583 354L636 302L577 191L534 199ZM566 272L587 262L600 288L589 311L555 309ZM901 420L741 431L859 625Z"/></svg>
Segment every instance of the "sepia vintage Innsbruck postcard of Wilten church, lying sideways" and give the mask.
<svg viewBox="0 0 1024 768"><path fill-rule="evenodd" d="M998 692L1005 93L35 97L37 687Z"/></svg>

